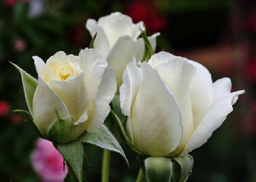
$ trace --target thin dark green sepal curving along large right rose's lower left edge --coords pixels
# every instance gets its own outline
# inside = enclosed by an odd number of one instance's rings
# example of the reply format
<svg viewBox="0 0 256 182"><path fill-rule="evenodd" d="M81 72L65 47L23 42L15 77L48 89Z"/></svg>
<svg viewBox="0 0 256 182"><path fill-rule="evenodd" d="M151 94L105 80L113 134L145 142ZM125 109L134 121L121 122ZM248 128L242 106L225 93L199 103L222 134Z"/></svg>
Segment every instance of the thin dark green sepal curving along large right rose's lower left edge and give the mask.
<svg viewBox="0 0 256 182"><path fill-rule="evenodd" d="M125 129L123 128L123 125L121 123L121 121L119 120L118 116L115 115L115 113L111 110L110 111L110 115L113 117L113 120L115 121L115 124L117 125L117 128L118 128L118 132L119 132L119 135L122 139L122 141L129 147L129 149L131 151L133 151L135 154L137 155L141 155L141 156L144 156L143 154L139 153L139 151L137 151L134 146L133 146L133 143L130 141L129 137L127 136L126 132L125 132Z"/></svg>

